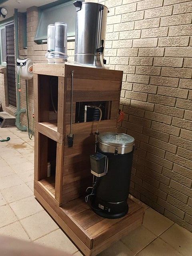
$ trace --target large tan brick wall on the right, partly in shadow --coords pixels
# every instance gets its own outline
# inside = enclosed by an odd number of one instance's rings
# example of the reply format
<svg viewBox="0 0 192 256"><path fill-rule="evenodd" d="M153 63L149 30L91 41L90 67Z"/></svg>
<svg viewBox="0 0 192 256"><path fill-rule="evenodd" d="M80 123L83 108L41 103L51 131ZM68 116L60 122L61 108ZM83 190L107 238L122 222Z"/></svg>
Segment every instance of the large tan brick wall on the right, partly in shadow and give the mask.
<svg viewBox="0 0 192 256"><path fill-rule="evenodd" d="M124 71L119 131L136 139L130 192L192 231L192 1L99 2L107 63Z"/></svg>

